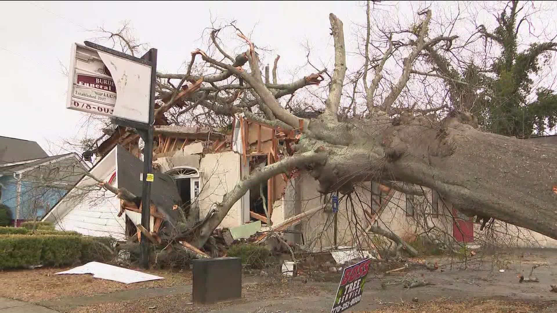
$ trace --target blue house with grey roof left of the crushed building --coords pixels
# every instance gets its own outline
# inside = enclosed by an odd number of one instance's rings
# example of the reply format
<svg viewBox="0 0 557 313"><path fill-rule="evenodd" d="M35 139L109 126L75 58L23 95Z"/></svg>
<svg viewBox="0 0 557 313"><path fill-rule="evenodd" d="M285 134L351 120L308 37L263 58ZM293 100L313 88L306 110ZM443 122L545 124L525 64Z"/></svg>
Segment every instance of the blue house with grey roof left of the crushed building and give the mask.
<svg viewBox="0 0 557 313"><path fill-rule="evenodd" d="M35 141L0 136L0 203L18 226L45 216L87 170L75 153L48 156Z"/></svg>

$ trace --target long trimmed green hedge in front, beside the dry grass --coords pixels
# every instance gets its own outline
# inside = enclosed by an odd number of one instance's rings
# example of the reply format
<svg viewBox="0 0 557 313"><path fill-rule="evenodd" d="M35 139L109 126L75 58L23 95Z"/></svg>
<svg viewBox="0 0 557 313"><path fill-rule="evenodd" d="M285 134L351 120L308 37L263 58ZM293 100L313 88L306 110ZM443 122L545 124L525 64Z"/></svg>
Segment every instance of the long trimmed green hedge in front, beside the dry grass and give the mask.
<svg viewBox="0 0 557 313"><path fill-rule="evenodd" d="M4 234L0 235L0 269L108 261L112 256L106 248L114 249L113 238L58 234L33 236Z"/></svg>

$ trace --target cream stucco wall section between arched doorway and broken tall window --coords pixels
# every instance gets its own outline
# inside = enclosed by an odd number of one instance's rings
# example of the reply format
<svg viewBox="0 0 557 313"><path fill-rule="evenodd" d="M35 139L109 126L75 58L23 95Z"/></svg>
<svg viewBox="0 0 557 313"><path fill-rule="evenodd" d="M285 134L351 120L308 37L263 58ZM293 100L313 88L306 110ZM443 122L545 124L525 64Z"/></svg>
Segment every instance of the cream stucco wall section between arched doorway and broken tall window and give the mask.
<svg viewBox="0 0 557 313"><path fill-rule="evenodd" d="M203 219L225 193L232 191L240 181L240 154L232 151L206 154L200 162L201 191L199 192L199 218ZM242 225L241 201L238 200L220 227Z"/></svg>

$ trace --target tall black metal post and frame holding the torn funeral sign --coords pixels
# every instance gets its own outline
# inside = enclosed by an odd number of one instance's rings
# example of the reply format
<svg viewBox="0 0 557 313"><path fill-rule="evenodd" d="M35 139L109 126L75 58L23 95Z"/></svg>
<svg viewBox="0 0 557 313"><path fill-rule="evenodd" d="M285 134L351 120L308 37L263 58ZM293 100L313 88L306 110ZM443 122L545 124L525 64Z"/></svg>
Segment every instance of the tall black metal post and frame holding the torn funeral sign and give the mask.
<svg viewBox="0 0 557 313"><path fill-rule="evenodd" d="M141 226L148 232L151 231L150 222L150 204L151 204L151 182L153 174L151 173L153 164L153 124L155 119L155 84L157 82L157 49L152 48L141 58L127 55L120 51L116 51L107 47L97 45L89 41L85 41L87 47L110 53L115 56L123 57L131 61L143 63L151 67L151 90L149 96L149 123L140 123L137 121L126 120L121 118L113 118L113 123L122 126L135 128L141 139L145 142L143 148L143 190L141 192ZM141 232L141 258L140 265L144 268L149 267L149 239Z"/></svg>

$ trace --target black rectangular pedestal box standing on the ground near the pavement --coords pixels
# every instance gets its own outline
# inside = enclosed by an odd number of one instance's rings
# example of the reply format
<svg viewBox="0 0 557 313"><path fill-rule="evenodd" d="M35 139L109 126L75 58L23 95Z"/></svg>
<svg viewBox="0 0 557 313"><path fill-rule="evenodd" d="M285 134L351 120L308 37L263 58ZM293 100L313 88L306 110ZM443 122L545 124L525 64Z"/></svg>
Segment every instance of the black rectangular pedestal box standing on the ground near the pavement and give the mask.
<svg viewBox="0 0 557 313"><path fill-rule="evenodd" d="M219 257L193 260L193 302L209 304L242 298L242 260Z"/></svg>

